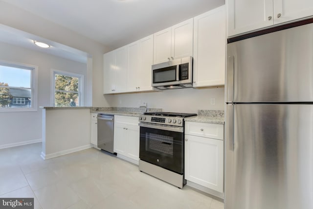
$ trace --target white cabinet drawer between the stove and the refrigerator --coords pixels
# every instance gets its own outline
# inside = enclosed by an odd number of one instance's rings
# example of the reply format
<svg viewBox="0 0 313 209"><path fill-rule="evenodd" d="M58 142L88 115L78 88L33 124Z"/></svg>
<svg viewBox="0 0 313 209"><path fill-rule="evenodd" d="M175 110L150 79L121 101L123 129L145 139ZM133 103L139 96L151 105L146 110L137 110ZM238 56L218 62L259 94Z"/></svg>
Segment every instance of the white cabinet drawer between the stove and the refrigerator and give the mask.
<svg viewBox="0 0 313 209"><path fill-rule="evenodd" d="M185 122L185 134L212 139L224 139L224 125L214 123Z"/></svg>

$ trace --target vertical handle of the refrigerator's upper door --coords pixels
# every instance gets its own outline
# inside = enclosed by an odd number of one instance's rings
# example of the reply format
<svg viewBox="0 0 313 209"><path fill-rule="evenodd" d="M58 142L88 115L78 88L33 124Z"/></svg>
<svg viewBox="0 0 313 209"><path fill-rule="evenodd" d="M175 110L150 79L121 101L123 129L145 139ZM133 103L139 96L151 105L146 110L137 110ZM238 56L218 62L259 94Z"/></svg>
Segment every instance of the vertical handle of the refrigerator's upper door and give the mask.
<svg viewBox="0 0 313 209"><path fill-rule="evenodd" d="M225 102L232 103L234 100L234 69L235 57L234 55L227 56L226 64L226 87L225 87Z"/></svg>

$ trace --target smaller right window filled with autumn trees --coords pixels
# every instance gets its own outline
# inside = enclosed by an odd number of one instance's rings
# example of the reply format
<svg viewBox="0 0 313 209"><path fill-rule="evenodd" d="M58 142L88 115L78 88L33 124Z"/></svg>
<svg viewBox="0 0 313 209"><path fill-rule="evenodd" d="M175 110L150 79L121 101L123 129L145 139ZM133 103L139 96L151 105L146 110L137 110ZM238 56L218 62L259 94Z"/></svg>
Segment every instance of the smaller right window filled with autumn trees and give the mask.
<svg viewBox="0 0 313 209"><path fill-rule="evenodd" d="M55 107L83 106L83 75L53 71Z"/></svg>

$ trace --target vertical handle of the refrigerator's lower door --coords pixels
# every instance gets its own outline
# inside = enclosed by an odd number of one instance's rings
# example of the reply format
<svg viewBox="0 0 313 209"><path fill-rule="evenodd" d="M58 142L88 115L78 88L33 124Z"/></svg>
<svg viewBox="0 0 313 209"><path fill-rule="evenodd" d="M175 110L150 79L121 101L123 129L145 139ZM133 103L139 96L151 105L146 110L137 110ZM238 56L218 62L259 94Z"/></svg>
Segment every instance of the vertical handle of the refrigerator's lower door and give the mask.
<svg viewBox="0 0 313 209"><path fill-rule="evenodd" d="M226 149L234 151L235 141L234 141L234 104L226 105L226 121L225 121L225 139L226 139Z"/></svg>

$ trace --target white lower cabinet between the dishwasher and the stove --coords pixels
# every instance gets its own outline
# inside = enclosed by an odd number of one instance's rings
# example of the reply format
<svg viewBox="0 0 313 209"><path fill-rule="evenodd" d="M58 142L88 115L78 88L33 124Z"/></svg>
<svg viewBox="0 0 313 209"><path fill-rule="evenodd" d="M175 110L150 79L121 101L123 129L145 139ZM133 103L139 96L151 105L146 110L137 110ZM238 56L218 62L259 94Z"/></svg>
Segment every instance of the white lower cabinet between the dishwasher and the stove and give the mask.
<svg viewBox="0 0 313 209"><path fill-rule="evenodd" d="M139 125L138 117L114 116L114 152L119 157L138 164Z"/></svg>

